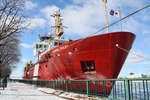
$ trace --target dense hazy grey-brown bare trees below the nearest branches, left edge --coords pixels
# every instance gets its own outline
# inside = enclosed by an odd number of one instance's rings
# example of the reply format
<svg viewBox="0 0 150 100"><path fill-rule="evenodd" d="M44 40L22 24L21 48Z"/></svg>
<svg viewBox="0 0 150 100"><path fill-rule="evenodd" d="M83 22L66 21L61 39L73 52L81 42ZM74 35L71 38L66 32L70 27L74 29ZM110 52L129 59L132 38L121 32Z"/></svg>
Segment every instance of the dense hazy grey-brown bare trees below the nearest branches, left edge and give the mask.
<svg viewBox="0 0 150 100"><path fill-rule="evenodd" d="M0 48L0 69L2 70L1 74L8 75L19 61L20 52L18 48L18 36L13 34L3 40L3 42L5 45Z"/></svg>

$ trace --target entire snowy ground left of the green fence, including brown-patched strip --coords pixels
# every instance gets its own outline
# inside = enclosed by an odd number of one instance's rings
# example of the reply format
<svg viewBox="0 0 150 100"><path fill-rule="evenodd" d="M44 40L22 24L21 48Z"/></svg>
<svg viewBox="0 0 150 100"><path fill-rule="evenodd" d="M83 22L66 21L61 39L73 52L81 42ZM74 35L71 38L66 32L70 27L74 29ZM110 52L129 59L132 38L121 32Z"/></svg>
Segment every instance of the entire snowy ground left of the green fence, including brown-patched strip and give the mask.
<svg viewBox="0 0 150 100"><path fill-rule="evenodd" d="M0 88L0 100L108 100L93 98L50 88L40 88L24 83L8 83L5 90Z"/></svg>

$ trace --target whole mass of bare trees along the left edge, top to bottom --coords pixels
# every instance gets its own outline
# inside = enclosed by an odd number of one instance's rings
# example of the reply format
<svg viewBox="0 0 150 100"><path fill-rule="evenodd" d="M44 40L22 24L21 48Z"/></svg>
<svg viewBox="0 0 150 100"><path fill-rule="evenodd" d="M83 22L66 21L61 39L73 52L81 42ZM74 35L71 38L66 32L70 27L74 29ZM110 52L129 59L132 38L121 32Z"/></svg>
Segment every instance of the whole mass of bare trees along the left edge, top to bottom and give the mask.
<svg viewBox="0 0 150 100"><path fill-rule="evenodd" d="M25 28L24 0L0 0L0 76L19 61L19 33Z"/></svg>

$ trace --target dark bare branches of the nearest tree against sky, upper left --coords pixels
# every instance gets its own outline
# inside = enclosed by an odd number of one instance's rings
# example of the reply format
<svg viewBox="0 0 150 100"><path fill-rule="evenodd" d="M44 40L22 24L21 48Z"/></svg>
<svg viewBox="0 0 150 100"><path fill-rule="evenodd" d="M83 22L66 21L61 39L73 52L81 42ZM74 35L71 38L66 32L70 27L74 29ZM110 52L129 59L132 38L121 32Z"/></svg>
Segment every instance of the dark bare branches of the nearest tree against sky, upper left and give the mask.
<svg viewBox="0 0 150 100"><path fill-rule="evenodd" d="M0 0L0 41L23 28L23 0Z"/></svg>

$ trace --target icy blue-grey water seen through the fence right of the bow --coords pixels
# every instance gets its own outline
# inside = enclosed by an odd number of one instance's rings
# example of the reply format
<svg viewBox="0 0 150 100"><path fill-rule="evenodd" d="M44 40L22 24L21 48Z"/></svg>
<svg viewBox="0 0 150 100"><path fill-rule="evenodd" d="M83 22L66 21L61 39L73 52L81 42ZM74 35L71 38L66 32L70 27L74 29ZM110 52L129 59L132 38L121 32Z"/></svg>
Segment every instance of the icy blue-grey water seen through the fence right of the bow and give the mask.
<svg viewBox="0 0 150 100"><path fill-rule="evenodd" d="M125 82L116 82L109 98L126 99ZM130 100L150 100L150 81L131 81Z"/></svg>

